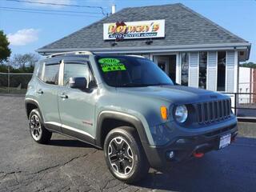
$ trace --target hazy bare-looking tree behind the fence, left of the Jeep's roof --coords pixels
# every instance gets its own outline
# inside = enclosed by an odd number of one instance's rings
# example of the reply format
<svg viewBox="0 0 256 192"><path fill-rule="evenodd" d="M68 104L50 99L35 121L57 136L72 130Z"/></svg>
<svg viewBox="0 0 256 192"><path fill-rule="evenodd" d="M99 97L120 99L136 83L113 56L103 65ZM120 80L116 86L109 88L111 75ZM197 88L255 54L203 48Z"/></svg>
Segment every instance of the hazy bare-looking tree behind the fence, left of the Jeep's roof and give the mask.
<svg viewBox="0 0 256 192"><path fill-rule="evenodd" d="M26 70L26 67L34 68L36 62L38 62L40 56L38 54L14 54L10 58L10 66L16 69Z"/></svg>

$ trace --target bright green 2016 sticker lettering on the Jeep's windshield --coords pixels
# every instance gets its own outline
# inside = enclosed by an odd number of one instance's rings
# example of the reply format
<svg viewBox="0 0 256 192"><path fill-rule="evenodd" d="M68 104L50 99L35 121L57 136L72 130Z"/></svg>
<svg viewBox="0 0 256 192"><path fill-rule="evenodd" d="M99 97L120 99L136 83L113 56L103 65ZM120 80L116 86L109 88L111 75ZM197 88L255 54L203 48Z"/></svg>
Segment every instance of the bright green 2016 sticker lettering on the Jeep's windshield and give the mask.
<svg viewBox="0 0 256 192"><path fill-rule="evenodd" d="M101 64L103 72L110 72L116 70L126 70L126 66L120 63L117 58L100 58L98 62Z"/></svg>

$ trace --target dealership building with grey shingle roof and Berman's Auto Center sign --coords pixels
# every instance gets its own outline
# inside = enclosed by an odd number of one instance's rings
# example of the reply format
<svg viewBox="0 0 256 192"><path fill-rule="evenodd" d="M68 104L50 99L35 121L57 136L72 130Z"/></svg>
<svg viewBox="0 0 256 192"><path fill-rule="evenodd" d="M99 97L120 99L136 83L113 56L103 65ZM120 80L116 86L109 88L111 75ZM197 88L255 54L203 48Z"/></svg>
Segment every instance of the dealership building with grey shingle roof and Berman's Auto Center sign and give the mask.
<svg viewBox="0 0 256 192"><path fill-rule="evenodd" d="M38 53L138 54L183 86L238 92L238 64L249 58L250 42L180 3L112 11Z"/></svg>

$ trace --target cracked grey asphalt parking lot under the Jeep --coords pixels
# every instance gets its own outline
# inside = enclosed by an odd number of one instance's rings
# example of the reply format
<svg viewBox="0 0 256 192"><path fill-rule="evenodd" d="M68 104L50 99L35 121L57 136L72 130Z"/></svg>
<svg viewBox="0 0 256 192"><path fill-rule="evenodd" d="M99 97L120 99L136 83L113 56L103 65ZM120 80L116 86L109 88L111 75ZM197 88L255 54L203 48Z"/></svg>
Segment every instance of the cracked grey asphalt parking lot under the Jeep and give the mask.
<svg viewBox="0 0 256 192"><path fill-rule="evenodd" d="M256 191L256 139L238 138L204 158L150 170L126 185L107 170L101 150L54 134L30 138L22 97L0 96L0 191Z"/></svg>

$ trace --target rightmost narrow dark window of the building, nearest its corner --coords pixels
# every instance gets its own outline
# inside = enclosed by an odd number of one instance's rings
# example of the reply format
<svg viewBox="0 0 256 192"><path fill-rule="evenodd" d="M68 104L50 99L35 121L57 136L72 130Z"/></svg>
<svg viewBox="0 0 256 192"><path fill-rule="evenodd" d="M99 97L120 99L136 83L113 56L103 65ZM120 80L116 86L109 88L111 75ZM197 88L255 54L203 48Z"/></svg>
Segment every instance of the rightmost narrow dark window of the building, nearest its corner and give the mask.
<svg viewBox="0 0 256 192"><path fill-rule="evenodd" d="M217 90L225 91L226 80L226 51L218 51Z"/></svg>

